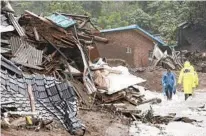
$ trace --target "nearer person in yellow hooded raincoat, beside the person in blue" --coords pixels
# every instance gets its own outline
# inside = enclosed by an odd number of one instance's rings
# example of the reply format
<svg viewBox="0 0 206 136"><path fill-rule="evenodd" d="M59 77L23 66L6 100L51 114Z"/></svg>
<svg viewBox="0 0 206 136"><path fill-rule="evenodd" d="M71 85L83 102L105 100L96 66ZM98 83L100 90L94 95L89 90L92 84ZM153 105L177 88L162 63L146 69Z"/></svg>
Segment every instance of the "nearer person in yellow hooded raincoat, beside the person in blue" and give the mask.
<svg viewBox="0 0 206 136"><path fill-rule="evenodd" d="M194 86L194 72L189 61L184 63L184 67L180 71L178 84L181 83L183 83L185 100L187 100L189 96L192 96Z"/></svg>

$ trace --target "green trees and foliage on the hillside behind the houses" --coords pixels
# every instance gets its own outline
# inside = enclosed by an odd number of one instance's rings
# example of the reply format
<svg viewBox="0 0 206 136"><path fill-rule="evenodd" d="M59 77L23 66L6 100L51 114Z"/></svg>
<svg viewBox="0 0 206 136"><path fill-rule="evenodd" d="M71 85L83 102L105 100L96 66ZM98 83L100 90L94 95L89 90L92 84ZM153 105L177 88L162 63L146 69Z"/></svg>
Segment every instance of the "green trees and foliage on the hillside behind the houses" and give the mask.
<svg viewBox="0 0 206 136"><path fill-rule="evenodd" d="M175 44L178 24L206 21L205 1L12 1L17 14L86 14L101 29L137 24ZM206 24L206 23L204 23Z"/></svg>

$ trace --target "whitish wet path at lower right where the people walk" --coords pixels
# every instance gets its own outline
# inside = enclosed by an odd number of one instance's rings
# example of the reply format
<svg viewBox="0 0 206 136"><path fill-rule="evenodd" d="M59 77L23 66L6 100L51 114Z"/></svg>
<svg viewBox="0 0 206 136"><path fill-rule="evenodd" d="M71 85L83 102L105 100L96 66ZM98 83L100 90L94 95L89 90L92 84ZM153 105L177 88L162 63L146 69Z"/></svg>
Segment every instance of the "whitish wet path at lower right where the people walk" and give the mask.
<svg viewBox="0 0 206 136"><path fill-rule="evenodd" d="M169 122L168 125L143 124L134 122L130 127L131 136L206 136L206 92L196 92L195 95L184 100L183 92L178 92L172 101L167 101L160 93L148 92L148 97L158 96L162 98L162 103L152 105L155 115L176 114L176 117L188 117L197 122ZM138 106L138 109L146 111L149 104Z"/></svg>

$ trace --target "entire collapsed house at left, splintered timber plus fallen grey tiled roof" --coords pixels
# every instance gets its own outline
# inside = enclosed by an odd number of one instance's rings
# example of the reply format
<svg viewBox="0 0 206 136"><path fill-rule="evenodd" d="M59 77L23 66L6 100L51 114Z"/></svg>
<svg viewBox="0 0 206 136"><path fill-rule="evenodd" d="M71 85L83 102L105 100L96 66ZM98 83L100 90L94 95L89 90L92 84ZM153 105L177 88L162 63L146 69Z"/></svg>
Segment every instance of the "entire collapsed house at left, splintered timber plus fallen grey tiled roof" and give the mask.
<svg viewBox="0 0 206 136"><path fill-rule="evenodd" d="M9 113L54 118L71 134L78 129L84 133L70 81L81 77L89 93L96 91L86 54L94 41L102 40L93 35L98 30L87 16L55 13L45 18L25 11L19 18L7 1L1 4L3 117Z"/></svg>

